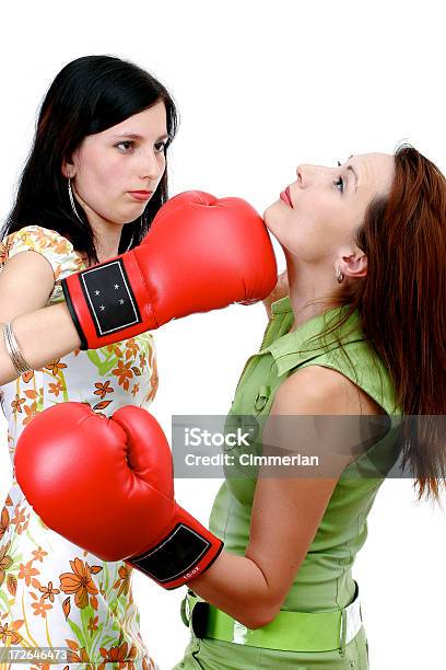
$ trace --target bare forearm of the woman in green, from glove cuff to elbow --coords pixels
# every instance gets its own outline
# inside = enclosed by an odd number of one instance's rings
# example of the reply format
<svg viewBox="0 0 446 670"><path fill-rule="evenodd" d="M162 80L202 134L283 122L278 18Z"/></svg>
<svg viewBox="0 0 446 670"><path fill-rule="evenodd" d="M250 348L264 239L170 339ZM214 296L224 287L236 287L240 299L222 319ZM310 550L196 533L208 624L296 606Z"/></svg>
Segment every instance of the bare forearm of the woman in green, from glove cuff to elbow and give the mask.
<svg viewBox="0 0 446 670"><path fill-rule="evenodd" d="M225 551L189 588L248 628L269 623L280 607L260 567L247 556Z"/></svg>

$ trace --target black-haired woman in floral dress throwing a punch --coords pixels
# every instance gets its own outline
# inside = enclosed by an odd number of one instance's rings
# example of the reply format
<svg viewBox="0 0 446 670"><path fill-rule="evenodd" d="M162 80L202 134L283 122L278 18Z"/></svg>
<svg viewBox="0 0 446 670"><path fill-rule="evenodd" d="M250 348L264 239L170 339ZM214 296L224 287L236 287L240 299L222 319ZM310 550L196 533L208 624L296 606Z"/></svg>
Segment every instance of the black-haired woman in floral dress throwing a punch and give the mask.
<svg viewBox="0 0 446 670"><path fill-rule="evenodd" d="M57 74L2 230L2 281L10 280L2 284L1 321L62 302L66 277L141 242L167 200L167 148L176 129L168 91L129 61L85 56ZM130 197L129 188L148 190ZM21 253L28 250L37 253ZM31 279L35 290L26 290ZM22 429L55 403L77 400L105 416L122 404L153 400L151 334L97 350L77 347L2 386L11 455ZM95 515L92 509L91 522L101 523ZM60 668L154 667L125 563L101 562L47 529L15 477L1 521L0 616L13 647L68 647L68 657L61 651L50 659Z"/></svg>

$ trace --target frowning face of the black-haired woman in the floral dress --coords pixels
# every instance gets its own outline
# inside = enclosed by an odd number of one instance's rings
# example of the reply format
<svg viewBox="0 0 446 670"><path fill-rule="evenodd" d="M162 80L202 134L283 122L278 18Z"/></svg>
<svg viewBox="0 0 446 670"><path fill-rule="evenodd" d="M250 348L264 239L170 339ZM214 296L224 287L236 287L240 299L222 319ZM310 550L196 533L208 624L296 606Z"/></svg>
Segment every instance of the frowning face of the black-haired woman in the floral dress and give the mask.
<svg viewBox="0 0 446 670"><path fill-rule="evenodd" d="M165 170L163 102L102 132L86 136L62 168L90 223L129 223L142 215ZM144 199L130 194L150 192Z"/></svg>

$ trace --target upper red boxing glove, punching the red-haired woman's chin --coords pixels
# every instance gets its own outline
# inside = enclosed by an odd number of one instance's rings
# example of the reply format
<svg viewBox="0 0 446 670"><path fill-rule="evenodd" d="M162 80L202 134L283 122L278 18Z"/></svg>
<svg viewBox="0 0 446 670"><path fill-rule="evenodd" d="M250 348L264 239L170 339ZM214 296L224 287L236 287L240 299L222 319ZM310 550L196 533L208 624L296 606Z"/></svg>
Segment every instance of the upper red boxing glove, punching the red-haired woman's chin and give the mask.
<svg viewBox="0 0 446 670"><path fill-rule="evenodd" d="M134 250L62 280L81 339L97 348L172 319L266 298L277 280L262 219L240 198L171 198Z"/></svg>

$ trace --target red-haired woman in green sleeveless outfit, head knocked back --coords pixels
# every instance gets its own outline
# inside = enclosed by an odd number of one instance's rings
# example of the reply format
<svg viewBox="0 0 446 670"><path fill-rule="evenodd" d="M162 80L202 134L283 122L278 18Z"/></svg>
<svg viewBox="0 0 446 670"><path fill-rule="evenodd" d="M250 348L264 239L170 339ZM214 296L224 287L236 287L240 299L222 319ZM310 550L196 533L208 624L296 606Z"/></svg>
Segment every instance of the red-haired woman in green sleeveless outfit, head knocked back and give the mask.
<svg viewBox="0 0 446 670"><path fill-rule="evenodd" d="M409 146L300 165L265 221L290 294L266 301L228 425L256 419L245 452L320 465L228 474L210 519L225 551L189 582L191 640L175 668L364 670L352 566L375 496L398 461L419 500L439 503L445 484L446 181Z"/></svg>

